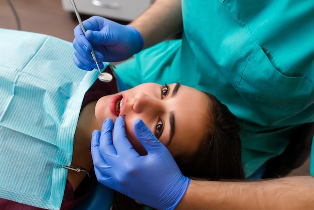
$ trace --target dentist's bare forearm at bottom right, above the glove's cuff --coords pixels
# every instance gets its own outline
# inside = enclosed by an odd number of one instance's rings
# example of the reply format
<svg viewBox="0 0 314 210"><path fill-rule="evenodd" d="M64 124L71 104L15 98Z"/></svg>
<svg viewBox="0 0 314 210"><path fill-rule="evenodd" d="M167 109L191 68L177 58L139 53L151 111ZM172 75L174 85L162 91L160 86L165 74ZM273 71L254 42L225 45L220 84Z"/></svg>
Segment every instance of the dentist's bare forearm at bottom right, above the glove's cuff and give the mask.
<svg viewBox="0 0 314 210"><path fill-rule="evenodd" d="M285 177L273 180L191 183L177 206L186 209L314 209L314 178Z"/></svg>

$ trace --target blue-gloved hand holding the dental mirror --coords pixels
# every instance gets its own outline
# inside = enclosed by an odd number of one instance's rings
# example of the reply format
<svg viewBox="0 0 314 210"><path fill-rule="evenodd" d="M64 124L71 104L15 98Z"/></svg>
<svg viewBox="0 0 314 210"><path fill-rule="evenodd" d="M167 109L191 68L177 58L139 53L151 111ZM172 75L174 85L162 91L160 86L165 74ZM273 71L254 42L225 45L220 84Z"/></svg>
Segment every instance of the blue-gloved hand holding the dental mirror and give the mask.
<svg viewBox="0 0 314 210"><path fill-rule="evenodd" d="M73 60L81 69L97 68L91 50L94 49L100 68L101 61L115 62L128 59L144 46L140 33L131 25L121 25L105 18L93 16L83 21L86 36L80 25L75 27Z"/></svg>

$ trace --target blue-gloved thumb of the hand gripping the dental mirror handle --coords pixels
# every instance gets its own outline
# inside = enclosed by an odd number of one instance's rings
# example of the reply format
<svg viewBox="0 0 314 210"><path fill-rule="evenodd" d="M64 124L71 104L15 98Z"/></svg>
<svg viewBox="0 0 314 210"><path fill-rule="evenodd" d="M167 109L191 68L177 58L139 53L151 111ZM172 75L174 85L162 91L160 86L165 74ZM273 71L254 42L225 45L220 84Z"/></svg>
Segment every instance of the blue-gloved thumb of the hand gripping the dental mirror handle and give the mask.
<svg viewBox="0 0 314 210"><path fill-rule="evenodd" d="M92 45L116 45L115 40L112 39L112 36L109 36L109 34L100 31L88 30L85 33L85 37Z"/></svg>

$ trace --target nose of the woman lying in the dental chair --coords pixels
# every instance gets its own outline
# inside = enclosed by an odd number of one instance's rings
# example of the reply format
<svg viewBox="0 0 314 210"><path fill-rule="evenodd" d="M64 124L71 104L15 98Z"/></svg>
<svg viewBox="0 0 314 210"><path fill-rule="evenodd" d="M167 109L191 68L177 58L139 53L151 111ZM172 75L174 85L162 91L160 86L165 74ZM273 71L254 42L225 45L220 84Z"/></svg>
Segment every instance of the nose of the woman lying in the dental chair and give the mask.
<svg viewBox="0 0 314 210"><path fill-rule="evenodd" d="M133 110L136 113L144 111L158 111L161 108L160 100L154 96L139 92L134 96Z"/></svg>

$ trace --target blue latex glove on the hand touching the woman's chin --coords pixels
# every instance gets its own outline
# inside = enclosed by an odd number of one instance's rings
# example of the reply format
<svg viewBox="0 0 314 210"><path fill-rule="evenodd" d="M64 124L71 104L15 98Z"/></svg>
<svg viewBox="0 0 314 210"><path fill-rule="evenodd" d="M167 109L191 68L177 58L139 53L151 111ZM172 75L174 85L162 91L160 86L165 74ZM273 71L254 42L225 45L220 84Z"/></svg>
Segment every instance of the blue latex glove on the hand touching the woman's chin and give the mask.
<svg viewBox="0 0 314 210"><path fill-rule="evenodd" d="M101 133L94 131L91 151L95 174L102 184L157 209L174 209L186 192L185 177L167 148L141 120L134 122L136 138L147 151L140 156L125 136L124 120L106 119Z"/></svg>

